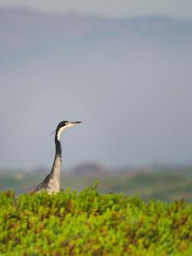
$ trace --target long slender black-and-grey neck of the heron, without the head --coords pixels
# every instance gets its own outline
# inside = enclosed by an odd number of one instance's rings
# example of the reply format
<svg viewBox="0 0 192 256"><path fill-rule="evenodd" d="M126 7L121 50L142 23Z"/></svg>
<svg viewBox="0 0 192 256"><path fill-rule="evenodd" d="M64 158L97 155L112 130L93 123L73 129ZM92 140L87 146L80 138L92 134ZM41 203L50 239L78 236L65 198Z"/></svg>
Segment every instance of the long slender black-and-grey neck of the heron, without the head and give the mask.
<svg viewBox="0 0 192 256"><path fill-rule="evenodd" d="M55 134L55 159L53 162L53 167L51 169L51 177L55 178L60 185L60 175L61 175L61 142L58 140L57 133Z"/></svg>

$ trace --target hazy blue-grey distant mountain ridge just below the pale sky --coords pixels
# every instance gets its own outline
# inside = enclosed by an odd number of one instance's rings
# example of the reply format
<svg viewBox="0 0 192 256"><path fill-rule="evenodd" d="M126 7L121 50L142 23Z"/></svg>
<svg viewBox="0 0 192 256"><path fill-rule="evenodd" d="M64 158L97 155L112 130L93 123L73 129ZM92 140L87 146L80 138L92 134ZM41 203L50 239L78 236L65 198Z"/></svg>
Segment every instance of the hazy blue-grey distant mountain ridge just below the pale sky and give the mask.
<svg viewBox="0 0 192 256"><path fill-rule="evenodd" d="M192 21L161 16L101 18L76 14L45 14L25 8L0 8L0 57L81 40L123 36L189 36Z"/></svg>

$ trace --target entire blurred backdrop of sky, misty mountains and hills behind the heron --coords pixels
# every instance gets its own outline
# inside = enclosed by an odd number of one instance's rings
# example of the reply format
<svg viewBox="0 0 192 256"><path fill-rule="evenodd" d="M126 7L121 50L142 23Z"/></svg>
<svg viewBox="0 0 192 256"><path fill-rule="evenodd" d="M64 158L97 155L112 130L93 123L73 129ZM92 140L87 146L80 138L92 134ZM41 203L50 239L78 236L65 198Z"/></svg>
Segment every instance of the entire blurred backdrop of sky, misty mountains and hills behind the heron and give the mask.
<svg viewBox="0 0 192 256"><path fill-rule="evenodd" d="M0 190L192 201L192 2L0 0Z"/></svg>

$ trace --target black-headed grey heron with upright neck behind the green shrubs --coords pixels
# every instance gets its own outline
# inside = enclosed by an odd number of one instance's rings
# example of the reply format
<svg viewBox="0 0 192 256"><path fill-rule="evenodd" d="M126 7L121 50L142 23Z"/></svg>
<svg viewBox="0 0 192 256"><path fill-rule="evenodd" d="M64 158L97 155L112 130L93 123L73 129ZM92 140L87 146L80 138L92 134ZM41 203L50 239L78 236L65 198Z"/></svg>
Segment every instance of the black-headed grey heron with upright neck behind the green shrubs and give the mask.
<svg viewBox="0 0 192 256"><path fill-rule="evenodd" d="M34 192L47 191L48 194L53 194L60 191L60 176L61 176L61 133L66 128L78 125L81 121L61 121L58 124L55 133L55 159L49 175L35 188Z"/></svg>

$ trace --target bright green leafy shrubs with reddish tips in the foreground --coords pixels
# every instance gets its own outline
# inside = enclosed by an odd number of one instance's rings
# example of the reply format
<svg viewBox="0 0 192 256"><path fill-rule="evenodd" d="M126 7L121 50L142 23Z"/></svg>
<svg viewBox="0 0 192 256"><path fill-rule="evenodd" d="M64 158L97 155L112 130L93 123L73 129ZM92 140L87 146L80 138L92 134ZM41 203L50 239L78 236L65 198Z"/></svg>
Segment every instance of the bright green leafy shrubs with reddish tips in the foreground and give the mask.
<svg viewBox="0 0 192 256"><path fill-rule="evenodd" d="M192 255L192 204L123 194L0 193L0 254Z"/></svg>

